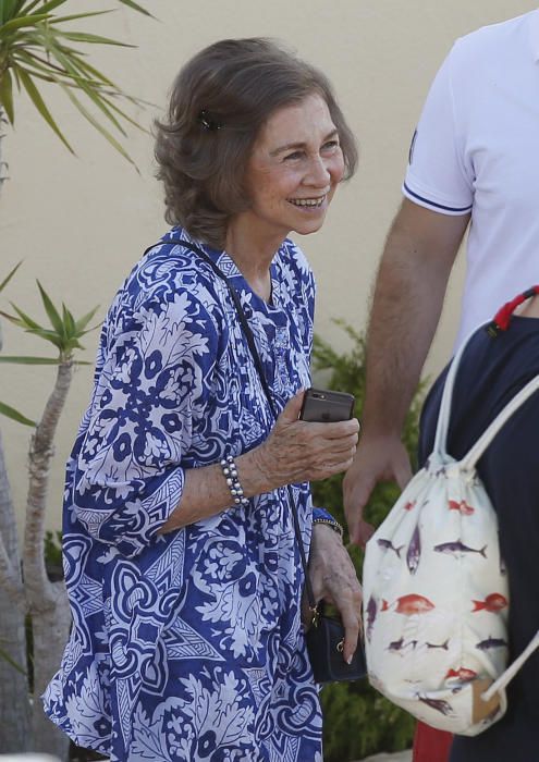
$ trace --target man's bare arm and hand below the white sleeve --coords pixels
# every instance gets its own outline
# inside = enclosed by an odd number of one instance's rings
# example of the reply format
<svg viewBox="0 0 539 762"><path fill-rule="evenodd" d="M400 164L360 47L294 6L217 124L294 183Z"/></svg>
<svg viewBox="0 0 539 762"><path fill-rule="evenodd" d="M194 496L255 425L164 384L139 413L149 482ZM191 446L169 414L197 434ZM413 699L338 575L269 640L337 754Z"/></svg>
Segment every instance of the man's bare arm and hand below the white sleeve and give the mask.
<svg viewBox="0 0 539 762"><path fill-rule="evenodd" d="M367 336L363 434L344 480L353 542L364 544L371 532L363 509L377 482L404 487L411 477L401 431L468 221L405 199L388 235Z"/></svg>

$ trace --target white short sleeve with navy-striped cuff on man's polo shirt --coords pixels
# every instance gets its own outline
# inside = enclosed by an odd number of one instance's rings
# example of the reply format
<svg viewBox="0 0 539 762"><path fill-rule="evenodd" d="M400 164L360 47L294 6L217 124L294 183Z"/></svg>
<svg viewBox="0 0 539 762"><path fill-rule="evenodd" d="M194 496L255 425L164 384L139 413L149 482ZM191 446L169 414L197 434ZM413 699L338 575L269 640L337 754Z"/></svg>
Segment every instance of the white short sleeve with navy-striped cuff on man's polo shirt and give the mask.
<svg viewBox="0 0 539 762"><path fill-rule="evenodd" d="M473 170L465 158L465 134L455 83L465 71L460 42L455 44L438 72L414 133L403 194L415 204L442 214L466 214L471 209Z"/></svg>

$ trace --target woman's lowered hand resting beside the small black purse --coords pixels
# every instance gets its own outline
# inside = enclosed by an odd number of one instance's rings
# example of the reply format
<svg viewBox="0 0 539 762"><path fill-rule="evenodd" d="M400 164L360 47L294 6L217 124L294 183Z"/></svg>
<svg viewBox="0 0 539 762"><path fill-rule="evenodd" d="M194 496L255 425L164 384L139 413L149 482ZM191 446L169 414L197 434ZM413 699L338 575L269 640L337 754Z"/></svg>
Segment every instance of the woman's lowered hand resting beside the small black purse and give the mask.
<svg viewBox="0 0 539 762"><path fill-rule="evenodd" d="M363 592L342 539L328 525L313 526L309 579L316 601L323 599L334 605L341 614L345 629L343 656L347 662L354 655L362 630ZM305 595L303 612L304 624L308 626L311 614Z"/></svg>

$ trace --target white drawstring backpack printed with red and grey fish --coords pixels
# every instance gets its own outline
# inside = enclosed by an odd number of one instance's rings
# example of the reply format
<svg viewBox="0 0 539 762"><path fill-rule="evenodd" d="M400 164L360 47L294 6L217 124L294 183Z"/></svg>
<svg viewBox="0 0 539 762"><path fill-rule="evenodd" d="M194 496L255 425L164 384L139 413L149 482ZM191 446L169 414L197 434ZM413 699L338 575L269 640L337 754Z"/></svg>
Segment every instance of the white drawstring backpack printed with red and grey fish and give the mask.
<svg viewBox="0 0 539 762"><path fill-rule="evenodd" d="M507 303L489 331L509 325ZM475 736L506 710L505 686L539 647L507 665L509 589L498 518L476 464L505 421L539 389L532 379L455 460L446 452L460 349L449 370L433 451L367 543L364 628L371 685L418 720Z"/></svg>

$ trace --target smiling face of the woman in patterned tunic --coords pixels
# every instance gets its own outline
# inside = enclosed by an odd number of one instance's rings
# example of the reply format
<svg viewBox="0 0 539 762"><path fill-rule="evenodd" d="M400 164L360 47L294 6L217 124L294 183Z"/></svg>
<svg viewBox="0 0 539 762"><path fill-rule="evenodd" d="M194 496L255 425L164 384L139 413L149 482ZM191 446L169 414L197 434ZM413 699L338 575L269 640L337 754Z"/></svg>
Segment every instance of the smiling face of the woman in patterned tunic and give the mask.
<svg viewBox="0 0 539 762"><path fill-rule="evenodd" d="M313 94L275 111L260 131L246 173L252 206L241 216L261 234L315 233L343 172L335 125L323 98Z"/></svg>

